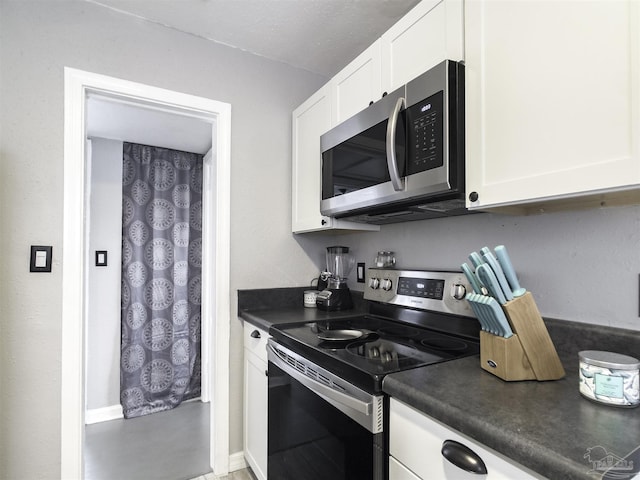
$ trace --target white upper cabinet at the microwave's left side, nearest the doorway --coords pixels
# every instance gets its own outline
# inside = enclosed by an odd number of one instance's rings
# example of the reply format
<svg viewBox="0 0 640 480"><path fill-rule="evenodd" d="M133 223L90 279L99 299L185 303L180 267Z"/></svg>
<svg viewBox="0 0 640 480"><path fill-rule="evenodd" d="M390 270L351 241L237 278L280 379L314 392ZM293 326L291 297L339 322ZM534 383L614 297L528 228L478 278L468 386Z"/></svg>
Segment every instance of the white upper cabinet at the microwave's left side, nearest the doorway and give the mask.
<svg viewBox="0 0 640 480"><path fill-rule="evenodd" d="M331 85L326 84L292 114L291 230L380 230L378 225L336 220L320 214L320 136L332 127Z"/></svg>

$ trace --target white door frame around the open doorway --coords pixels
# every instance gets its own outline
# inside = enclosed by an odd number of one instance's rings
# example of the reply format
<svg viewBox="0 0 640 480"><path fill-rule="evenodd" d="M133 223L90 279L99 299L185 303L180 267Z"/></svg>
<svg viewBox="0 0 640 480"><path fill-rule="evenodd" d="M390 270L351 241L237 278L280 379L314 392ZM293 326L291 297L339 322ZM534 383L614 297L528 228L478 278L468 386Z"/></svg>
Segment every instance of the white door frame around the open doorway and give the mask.
<svg viewBox="0 0 640 480"><path fill-rule="evenodd" d="M231 105L171 90L64 69L64 221L62 258L61 478L83 478L88 191L86 99L90 93L198 117L212 123L211 161L203 169L202 321L209 332L210 463L229 471ZM209 209L207 209L209 206ZM208 210L208 211L207 211ZM207 341L203 338L203 341Z"/></svg>

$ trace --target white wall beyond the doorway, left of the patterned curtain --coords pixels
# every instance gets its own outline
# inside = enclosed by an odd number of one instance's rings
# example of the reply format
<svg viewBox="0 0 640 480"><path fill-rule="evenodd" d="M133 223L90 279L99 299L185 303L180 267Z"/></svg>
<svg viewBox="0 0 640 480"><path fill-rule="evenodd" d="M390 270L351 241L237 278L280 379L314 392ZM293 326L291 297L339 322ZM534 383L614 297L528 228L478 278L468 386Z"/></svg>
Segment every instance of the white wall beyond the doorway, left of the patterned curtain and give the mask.
<svg viewBox="0 0 640 480"><path fill-rule="evenodd" d="M120 404L122 142L93 138L90 155L85 394L88 410ZM95 265L106 250L107 266Z"/></svg>

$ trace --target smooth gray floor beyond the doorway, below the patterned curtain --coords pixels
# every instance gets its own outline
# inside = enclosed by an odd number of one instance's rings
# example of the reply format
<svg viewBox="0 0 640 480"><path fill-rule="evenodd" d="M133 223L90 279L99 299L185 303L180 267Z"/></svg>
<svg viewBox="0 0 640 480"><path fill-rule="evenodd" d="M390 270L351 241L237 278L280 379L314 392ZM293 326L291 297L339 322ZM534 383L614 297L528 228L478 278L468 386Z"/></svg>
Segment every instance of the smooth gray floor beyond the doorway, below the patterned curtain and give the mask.
<svg viewBox="0 0 640 480"><path fill-rule="evenodd" d="M84 456L86 480L204 476L211 472L209 404L189 402L168 412L87 425Z"/></svg>

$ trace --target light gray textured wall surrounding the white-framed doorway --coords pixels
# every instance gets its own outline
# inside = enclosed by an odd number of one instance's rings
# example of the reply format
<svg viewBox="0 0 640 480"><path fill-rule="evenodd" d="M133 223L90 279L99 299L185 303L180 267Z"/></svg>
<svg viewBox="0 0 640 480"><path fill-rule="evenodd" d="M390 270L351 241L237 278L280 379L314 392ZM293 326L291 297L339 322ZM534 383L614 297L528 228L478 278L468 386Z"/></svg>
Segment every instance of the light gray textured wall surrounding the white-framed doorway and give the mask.
<svg viewBox="0 0 640 480"><path fill-rule="evenodd" d="M326 79L88 2L2 0L0 32L0 478L60 476L65 66L232 106L230 447L240 451L235 292L317 274L324 241L290 233L290 132L291 111ZM53 245L52 273L29 273L30 245Z"/></svg>

